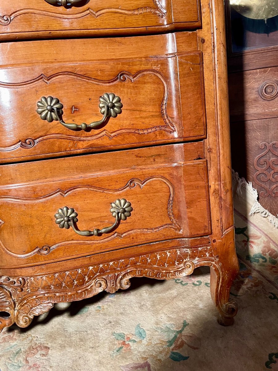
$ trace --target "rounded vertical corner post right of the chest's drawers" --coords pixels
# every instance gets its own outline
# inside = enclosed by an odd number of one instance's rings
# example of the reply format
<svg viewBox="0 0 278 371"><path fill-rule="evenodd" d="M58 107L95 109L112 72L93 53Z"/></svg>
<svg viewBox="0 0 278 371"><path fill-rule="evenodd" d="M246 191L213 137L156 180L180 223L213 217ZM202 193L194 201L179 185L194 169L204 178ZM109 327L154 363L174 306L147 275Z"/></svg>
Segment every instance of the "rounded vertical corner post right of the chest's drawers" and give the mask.
<svg viewBox="0 0 278 371"><path fill-rule="evenodd" d="M219 4L211 1L208 9L209 11L207 8L203 10L203 29L198 30L197 34L204 61L208 118L205 147L211 186L211 209L215 211L212 223L217 240L233 228L234 217L224 4L222 1ZM220 215L216 210L219 210Z"/></svg>

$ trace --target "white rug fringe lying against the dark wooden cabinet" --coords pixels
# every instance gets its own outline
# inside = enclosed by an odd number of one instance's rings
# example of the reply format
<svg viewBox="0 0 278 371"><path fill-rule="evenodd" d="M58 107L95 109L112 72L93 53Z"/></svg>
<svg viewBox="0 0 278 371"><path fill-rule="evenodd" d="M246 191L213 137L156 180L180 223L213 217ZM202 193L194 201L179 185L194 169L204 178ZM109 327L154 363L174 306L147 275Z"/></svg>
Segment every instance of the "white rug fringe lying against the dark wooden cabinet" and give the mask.
<svg viewBox="0 0 278 371"><path fill-rule="evenodd" d="M242 190L246 190L249 196L251 196L254 202L251 207L249 215L260 214L262 217L267 218L274 228L278 229L278 217L269 213L268 210L264 209L258 201L258 192L255 190L251 182L247 182L244 178L239 178L238 173L232 170L232 179L236 183L236 194L243 197ZM245 197L243 197L245 198Z"/></svg>

